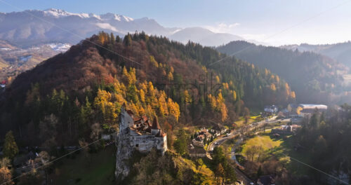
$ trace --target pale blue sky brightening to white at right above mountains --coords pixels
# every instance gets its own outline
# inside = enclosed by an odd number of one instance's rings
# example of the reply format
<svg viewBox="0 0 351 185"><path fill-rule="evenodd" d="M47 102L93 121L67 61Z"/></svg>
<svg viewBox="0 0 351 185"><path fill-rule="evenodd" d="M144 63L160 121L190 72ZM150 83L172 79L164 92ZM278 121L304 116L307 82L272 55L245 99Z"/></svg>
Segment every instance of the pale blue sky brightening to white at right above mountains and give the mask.
<svg viewBox="0 0 351 185"><path fill-rule="evenodd" d="M165 27L205 27L274 46L351 40L351 0L0 0L4 13L47 8L147 17Z"/></svg>

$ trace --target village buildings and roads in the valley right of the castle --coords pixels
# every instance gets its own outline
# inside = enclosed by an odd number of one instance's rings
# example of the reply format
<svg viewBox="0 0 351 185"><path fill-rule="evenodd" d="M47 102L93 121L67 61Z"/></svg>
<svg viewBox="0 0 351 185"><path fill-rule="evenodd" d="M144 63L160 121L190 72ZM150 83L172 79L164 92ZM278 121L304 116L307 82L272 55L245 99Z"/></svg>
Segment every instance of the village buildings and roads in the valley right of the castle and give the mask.
<svg viewBox="0 0 351 185"><path fill-rule="evenodd" d="M245 130L243 132L238 132L237 128L234 127L232 130L228 127L217 123L211 128L199 128L198 131L194 132L191 136L192 143L189 146L190 157L206 157L211 158L211 153L216 146L227 142L227 140L233 139L237 141L232 145L232 151L230 155L232 159L235 160L237 165L238 174L241 174L242 181L237 181L237 184L274 184L274 174L263 175L258 177L257 181L248 181L248 177L242 172L244 171L244 166L241 165L236 156L242 158L243 153L236 152L235 147L241 147L240 144L245 142L247 135L250 135L248 131L251 131L251 135L260 135L260 132L270 133L270 137L274 139L279 139L293 135L298 129L302 128L301 123L304 119L310 119L313 114L326 114L328 106L324 104L288 104L284 109L279 109L276 105L267 105L260 112L259 116L256 116L256 121L246 125L246 128L239 128L239 130ZM336 109L341 109L336 107ZM274 126L270 126L274 125ZM260 130L259 128L263 128ZM252 136L250 136L252 137ZM294 146L294 150L298 150L298 146Z"/></svg>

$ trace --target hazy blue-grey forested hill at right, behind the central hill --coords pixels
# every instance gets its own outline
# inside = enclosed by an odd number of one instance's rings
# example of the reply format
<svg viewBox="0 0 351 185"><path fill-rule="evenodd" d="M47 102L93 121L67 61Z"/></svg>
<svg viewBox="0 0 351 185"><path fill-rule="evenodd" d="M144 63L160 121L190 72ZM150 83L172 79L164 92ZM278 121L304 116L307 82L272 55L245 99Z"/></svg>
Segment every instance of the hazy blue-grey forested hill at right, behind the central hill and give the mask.
<svg viewBox="0 0 351 185"><path fill-rule="evenodd" d="M236 53L236 57L278 74L296 90L299 102L328 104L345 98L342 75L348 69L324 55L256 46L245 41L233 41L217 50L228 55Z"/></svg>

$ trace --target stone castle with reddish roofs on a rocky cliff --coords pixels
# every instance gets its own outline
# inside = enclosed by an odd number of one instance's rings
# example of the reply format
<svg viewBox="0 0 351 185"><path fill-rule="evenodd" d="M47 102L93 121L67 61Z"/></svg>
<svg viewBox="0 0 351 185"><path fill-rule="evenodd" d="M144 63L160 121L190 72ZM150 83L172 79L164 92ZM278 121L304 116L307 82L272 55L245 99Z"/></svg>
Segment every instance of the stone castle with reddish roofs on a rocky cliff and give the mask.
<svg viewBox="0 0 351 185"><path fill-rule="evenodd" d="M119 134L117 137L117 179L124 179L129 173L126 160L131 157L134 150L142 153L156 148L162 154L167 151L167 135L159 126L155 117L151 123L147 116L135 117L133 112L121 107Z"/></svg>

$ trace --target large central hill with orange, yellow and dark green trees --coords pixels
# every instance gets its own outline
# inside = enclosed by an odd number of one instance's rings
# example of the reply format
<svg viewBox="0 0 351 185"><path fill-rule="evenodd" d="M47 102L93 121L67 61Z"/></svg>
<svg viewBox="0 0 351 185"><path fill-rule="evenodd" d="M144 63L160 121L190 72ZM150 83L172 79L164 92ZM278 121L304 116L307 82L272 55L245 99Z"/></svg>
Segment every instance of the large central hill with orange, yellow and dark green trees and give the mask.
<svg viewBox="0 0 351 185"><path fill-rule="evenodd" d="M212 48L102 32L15 78L1 97L0 132L29 144L77 143L116 130L126 103L136 115L158 116L169 133L178 124L229 125L249 115L246 107L294 98L279 76Z"/></svg>

